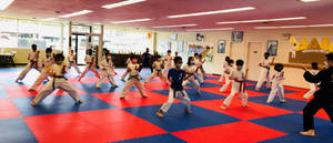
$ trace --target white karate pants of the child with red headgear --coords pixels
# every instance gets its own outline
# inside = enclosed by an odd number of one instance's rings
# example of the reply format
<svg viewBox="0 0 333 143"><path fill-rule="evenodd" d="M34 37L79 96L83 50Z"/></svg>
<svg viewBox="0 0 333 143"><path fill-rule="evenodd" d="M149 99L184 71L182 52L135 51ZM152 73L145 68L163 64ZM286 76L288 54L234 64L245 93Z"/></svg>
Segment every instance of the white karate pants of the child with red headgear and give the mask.
<svg viewBox="0 0 333 143"><path fill-rule="evenodd" d="M145 91L143 89L143 83L138 79L130 79L130 80L127 80L120 96L125 96L130 92L130 90L133 85L135 85L135 88L139 90L139 92L142 96L145 95Z"/></svg>

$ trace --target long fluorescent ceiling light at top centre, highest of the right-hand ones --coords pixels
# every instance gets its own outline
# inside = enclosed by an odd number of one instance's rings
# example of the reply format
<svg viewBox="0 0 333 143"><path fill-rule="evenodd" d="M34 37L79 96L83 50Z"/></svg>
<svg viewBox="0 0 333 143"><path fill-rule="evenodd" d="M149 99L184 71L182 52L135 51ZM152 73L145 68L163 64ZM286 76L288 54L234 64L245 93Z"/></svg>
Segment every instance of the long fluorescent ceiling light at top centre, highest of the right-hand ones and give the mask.
<svg viewBox="0 0 333 143"><path fill-rule="evenodd" d="M198 12L198 13L189 13L189 14L169 16L168 18L184 18L184 17L195 17L195 16L206 16L206 14L220 14L220 13L254 10L254 9L255 8L253 8L253 7L244 7L244 8L236 8L236 9L226 9L226 10L206 11L206 12Z"/></svg>

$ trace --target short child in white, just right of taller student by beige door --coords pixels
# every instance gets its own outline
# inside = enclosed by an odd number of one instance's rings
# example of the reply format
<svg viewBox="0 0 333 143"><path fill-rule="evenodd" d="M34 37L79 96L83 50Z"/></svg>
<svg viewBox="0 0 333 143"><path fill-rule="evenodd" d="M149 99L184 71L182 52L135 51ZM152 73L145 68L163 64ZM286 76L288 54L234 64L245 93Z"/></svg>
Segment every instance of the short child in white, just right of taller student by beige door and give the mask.
<svg viewBox="0 0 333 143"><path fill-rule="evenodd" d="M268 99L268 103L272 103L274 100L275 95L279 94L280 96L280 102L284 103L284 89L283 89L283 80L284 80L284 71L283 70L283 64L276 63L274 67L274 74L272 76L272 90Z"/></svg>

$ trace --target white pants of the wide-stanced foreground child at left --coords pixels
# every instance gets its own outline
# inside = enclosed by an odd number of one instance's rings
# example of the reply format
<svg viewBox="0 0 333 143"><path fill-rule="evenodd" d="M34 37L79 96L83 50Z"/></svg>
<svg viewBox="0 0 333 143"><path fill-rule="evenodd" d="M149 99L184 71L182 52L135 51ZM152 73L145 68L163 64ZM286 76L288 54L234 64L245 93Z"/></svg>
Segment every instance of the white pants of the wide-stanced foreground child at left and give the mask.
<svg viewBox="0 0 333 143"><path fill-rule="evenodd" d="M78 91L65 79L56 79L54 89L53 80L54 79L52 79L33 99L36 104L41 102L46 96L50 95L56 89L62 89L63 91L68 92L75 102L80 100Z"/></svg>

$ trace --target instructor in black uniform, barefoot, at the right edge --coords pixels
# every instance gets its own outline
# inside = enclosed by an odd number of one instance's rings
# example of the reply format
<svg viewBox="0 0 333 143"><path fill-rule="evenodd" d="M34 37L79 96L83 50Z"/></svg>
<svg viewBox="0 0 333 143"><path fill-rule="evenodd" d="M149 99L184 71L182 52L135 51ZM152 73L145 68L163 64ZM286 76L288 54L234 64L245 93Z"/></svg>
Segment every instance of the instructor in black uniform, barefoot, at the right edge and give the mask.
<svg viewBox="0 0 333 143"><path fill-rule="evenodd" d="M320 83L319 91L303 110L303 131L301 135L315 136L313 116L320 109L324 109L333 121L333 53L326 54L329 69L320 71L312 75L306 68L304 79L311 83Z"/></svg>

